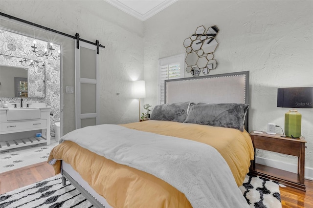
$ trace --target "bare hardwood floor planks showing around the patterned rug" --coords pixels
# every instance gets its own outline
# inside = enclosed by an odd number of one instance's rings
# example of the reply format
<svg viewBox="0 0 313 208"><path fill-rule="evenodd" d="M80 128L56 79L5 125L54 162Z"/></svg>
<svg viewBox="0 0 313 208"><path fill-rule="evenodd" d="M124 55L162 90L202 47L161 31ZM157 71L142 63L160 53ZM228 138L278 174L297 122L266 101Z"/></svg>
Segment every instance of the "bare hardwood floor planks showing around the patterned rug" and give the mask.
<svg viewBox="0 0 313 208"><path fill-rule="evenodd" d="M0 174L0 194L54 176L54 169L46 162L37 166ZM313 181L305 180L306 192L280 187L283 208L313 208Z"/></svg>

